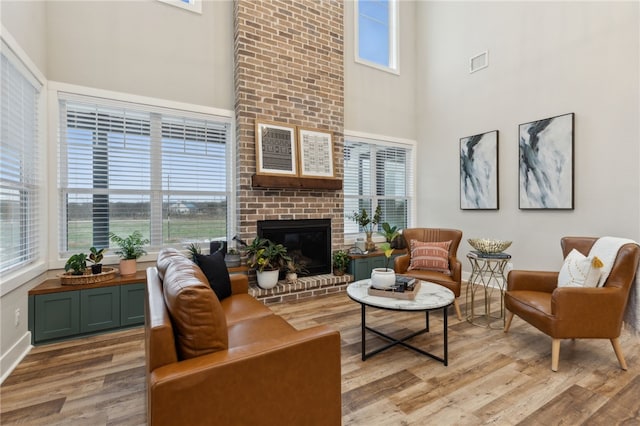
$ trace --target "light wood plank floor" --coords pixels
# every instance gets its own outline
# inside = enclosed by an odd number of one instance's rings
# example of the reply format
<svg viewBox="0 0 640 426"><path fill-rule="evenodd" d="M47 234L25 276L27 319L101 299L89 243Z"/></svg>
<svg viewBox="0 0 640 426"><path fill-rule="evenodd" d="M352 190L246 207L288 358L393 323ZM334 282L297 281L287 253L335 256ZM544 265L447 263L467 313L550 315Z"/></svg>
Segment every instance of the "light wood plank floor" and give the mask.
<svg viewBox="0 0 640 426"><path fill-rule="evenodd" d="M626 332L628 371L609 341L576 340L553 373L550 339L518 317L504 334L450 312L449 366L401 347L362 362L360 306L344 293L272 309L297 328L340 330L344 425L640 424L640 338ZM440 354L442 316L430 319L432 334L412 342ZM424 316L370 309L367 323L402 333ZM137 328L33 349L0 388L0 423L145 424L143 339ZM381 343L367 336L368 349Z"/></svg>

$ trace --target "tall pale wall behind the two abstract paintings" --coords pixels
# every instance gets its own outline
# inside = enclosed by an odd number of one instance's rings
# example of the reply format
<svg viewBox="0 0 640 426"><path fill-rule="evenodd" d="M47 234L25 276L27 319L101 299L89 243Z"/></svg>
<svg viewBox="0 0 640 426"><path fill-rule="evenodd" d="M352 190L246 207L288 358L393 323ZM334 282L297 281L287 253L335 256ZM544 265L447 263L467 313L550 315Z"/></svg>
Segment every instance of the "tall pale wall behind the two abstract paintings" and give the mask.
<svg viewBox="0 0 640 426"><path fill-rule="evenodd" d="M461 257L513 240L516 268L559 268L564 235L640 240L638 2L419 2L416 19L419 225L462 229ZM575 209L519 210L518 125L569 112ZM462 211L459 138L496 129L500 209Z"/></svg>

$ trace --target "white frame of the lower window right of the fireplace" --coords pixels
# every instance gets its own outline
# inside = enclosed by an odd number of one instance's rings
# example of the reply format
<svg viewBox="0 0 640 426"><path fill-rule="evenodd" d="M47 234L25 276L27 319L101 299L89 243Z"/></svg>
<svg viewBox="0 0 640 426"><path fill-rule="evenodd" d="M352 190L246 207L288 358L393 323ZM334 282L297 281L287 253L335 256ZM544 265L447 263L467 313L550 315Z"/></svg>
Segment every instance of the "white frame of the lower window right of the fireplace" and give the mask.
<svg viewBox="0 0 640 426"><path fill-rule="evenodd" d="M374 135L374 134L369 134L369 133L363 133L363 132L356 132L356 131L349 131L349 130L345 130L344 132L344 144L345 144L345 148L346 148L346 144L347 142L356 142L356 143L364 143L364 144L368 144L368 145L375 145L377 147L380 147L381 149L386 149L386 148L402 148L402 149L406 149L409 154L410 154L410 158L408 159L407 163L408 166L411 168L410 170L410 174L409 174L409 181L407 182L407 195L406 195L406 199L407 199L407 228L411 228L415 226L415 217L416 217L416 164L417 164L417 160L416 160L416 147L417 147L417 142L415 140L411 140L411 139L404 139L404 138L397 138L397 137L392 137L392 136L383 136L383 135ZM379 196L376 195L376 182L375 182L375 176L376 176L376 168L372 167L371 168L371 178L372 178L372 182L371 182L371 194L369 196L353 196L353 195L349 195L346 193L346 191L344 192L344 199L368 199L371 200L371 205L373 206L372 210L375 209L375 206L378 205L378 201L379 199L385 199L384 196ZM343 185L343 188L346 185ZM349 218L349 214L350 212L344 212L344 220L345 223L347 221L351 221L351 219ZM373 212L368 211L369 214L373 214ZM346 229L346 226L345 226ZM354 244L356 241L356 238L363 236L364 233L363 232L344 232L344 240L346 244Z"/></svg>

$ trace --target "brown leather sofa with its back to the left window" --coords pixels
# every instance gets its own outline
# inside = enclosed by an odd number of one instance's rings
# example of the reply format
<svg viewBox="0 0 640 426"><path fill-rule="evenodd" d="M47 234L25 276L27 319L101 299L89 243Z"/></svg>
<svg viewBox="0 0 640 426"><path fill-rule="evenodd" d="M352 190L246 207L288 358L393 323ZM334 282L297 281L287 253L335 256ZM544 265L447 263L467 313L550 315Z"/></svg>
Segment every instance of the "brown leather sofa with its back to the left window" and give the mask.
<svg viewBox="0 0 640 426"><path fill-rule="evenodd" d="M147 269L150 425L339 425L340 334L296 330L231 276L219 301L176 250Z"/></svg>

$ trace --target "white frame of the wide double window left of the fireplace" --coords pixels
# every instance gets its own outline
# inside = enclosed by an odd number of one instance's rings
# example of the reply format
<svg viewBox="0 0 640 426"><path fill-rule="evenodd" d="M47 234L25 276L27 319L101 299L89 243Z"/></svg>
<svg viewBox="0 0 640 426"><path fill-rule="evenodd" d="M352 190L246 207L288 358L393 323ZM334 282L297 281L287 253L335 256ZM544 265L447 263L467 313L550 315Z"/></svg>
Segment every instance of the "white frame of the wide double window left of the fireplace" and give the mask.
<svg viewBox="0 0 640 426"><path fill-rule="evenodd" d="M78 96L78 97L87 97L87 98L104 98L112 101L114 103L125 103L140 106L143 105L147 107L147 110L151 113L157 112L158 110L163 112L180 112L184 111L187 114L195 114L195 115L207 115L213 116L213 118L220 119L220 121L224 121L228 123L228 132L229 132L229 143L227 144L227 194L228 194L228 205L227 205L227 230L226 237L229 240L233 235L235 235L237 229L237 206L236 206L236 191L234 190L234 183L236 180L237 174L237 155L236 155L236 147L235 147L235 115L233 111L218 109L213 107L207 107L203 105L194 105L187 104L182 102L169 101L158 98L149 98L144 96L132 95L129 93L121 93L114 92L102 89L89 88L84 86L77 86L67 83L61 82L49 82L49 120L52 123L51 126L51 140L55 141L56 152L58 152L60 148L59 134L60 134L60 106L59 106L59 96L60 94L64 94L63 96ZM53 145L53 142L52 142ZM59 152L58 152L58 155ZM50 170L53 169L53 173L50 174L50 182L58 182L59 179L59 170L58 170L58 155L54 156L54 158L50 159ZM53 218L50 219L49 229L51 230L51 234L55 233L55 238L51 238L50 242L50 252L52 253L52 263L57 267L63 267L64 262L66 261L67 252L62 251L62 241L66 238L66 235L63 235L61 232L60 226L60 215L63 214L63 206L61 206L60 201L60 188L58 185L51 185L49 191L49 209L50 211L56 212L55 215L51 215ZM153 212L150 220L154 218ZM156 218L157 219L157 218ZM202 247L203 250L207 250L208 247ZM158 247L152 247L151 250L148 250L147 255L143 256L140 261L152 261L155 260L158 252ZM105 255L105 262L117 262L117 257L113 253L113 251L107 252Z"/></svg>

